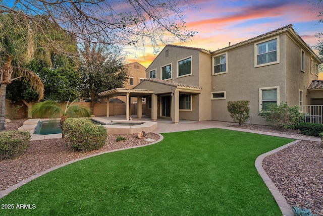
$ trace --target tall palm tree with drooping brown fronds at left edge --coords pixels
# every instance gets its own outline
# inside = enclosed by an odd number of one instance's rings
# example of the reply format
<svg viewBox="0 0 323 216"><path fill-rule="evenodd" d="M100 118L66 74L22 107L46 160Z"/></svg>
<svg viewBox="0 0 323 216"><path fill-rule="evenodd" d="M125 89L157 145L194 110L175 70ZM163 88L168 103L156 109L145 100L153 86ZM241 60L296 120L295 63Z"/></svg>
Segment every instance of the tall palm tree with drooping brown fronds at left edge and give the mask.
<svg viewBox="0 0 323 216"><path fill-rule="evenodd" d="M0 14L0 130L5 130L5 101L7 85L24 77L43 98L44 86L40 78L24 67L32 60L35 49L33 31L23 16Z"/></svg>

